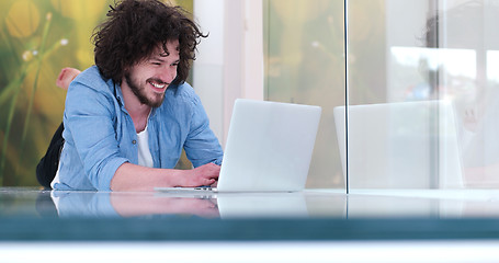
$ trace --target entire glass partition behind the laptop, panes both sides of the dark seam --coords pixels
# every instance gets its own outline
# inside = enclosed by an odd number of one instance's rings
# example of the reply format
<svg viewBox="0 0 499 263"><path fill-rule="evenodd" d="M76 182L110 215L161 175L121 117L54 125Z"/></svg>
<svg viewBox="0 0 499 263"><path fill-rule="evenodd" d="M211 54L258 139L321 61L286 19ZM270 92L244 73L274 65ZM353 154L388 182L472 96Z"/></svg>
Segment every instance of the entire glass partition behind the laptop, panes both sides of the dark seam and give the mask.
<svg viewBox="0 0 499 263"><path fill-rule="evenodd" d="M497 186L498 1L264 7L265 99L324 110L307 187Z"/></svg>

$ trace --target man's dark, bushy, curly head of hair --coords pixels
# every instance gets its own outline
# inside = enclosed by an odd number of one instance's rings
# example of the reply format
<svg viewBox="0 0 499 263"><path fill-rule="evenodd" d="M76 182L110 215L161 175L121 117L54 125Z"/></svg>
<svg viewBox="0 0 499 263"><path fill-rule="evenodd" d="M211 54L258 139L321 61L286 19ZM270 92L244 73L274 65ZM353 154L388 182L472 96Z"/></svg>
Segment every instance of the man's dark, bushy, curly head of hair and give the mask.
<svg viewBox="0 0 499 263"><path fill-rule="evenodd" d="M125 70L150 57L161 44L179 41L180 61L172 84L183 83L195 59L201 37L206 37L190 14L181 7L158 0L121 0L110 5L109 19L95 27L95 65L101 75L121 83Z"/></svg>

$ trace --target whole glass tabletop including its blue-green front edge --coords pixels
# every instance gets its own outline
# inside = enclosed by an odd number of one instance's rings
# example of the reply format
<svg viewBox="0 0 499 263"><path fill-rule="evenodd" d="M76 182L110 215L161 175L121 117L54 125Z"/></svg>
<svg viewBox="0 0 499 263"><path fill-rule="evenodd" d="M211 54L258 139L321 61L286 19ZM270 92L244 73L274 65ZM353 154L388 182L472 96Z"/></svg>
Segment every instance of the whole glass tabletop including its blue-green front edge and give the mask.
<svg viewBox="0 0 499 263"><path fill-rule="evenodd" d="M364 240L499 237L495 191L294 193L0 190L0 240Z"/></svg>

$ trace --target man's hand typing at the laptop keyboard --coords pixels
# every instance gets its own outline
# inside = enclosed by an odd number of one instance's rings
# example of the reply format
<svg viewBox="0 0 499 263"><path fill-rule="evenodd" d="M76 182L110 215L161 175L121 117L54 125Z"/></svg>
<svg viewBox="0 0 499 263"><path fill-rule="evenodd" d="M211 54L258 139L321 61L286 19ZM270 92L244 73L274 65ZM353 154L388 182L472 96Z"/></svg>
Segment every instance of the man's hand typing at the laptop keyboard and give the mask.
<svg viewBox="0 0 499 263"><path fill-rule="evenodd" d="M220 174L220 167L215 163L207 163L192 170L185 170L181 182L177 186L196 187L215 184Z"/></svg>

